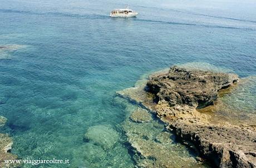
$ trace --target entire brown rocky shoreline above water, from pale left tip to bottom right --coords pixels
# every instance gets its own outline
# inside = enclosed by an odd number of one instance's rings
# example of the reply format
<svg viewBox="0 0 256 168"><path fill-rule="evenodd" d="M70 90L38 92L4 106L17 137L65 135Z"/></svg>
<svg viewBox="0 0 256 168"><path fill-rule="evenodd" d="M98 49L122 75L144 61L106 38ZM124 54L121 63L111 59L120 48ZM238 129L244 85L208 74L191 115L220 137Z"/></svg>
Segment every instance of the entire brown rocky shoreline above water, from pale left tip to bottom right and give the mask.
<svg viewBox="0 0 256 168"><path fill-rule="evenodd" d="M146 86L117 93L155 113L166 129L184 143L193 144L213 167L256 167L256 126L213 122L211 115L200 111L214 106L219 91L238 81L232 73L174 66L150 76Z"/></svg>

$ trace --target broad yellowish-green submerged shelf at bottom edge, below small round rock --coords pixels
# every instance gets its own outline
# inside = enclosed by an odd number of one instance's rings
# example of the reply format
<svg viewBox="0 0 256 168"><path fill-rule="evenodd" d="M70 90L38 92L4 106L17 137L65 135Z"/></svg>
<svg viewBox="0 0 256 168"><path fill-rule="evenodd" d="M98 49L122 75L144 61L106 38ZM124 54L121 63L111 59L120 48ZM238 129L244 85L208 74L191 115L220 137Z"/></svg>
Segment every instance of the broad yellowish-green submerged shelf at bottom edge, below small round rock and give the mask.
<svg viewBox="0 0 256 168"><path fill-rule="evenodd" d="M163 123L149 122L122 123L127 140L134 150L138 167L205 167L195 160L184 145L176 144L173 134L165 131Z"/></svg>

